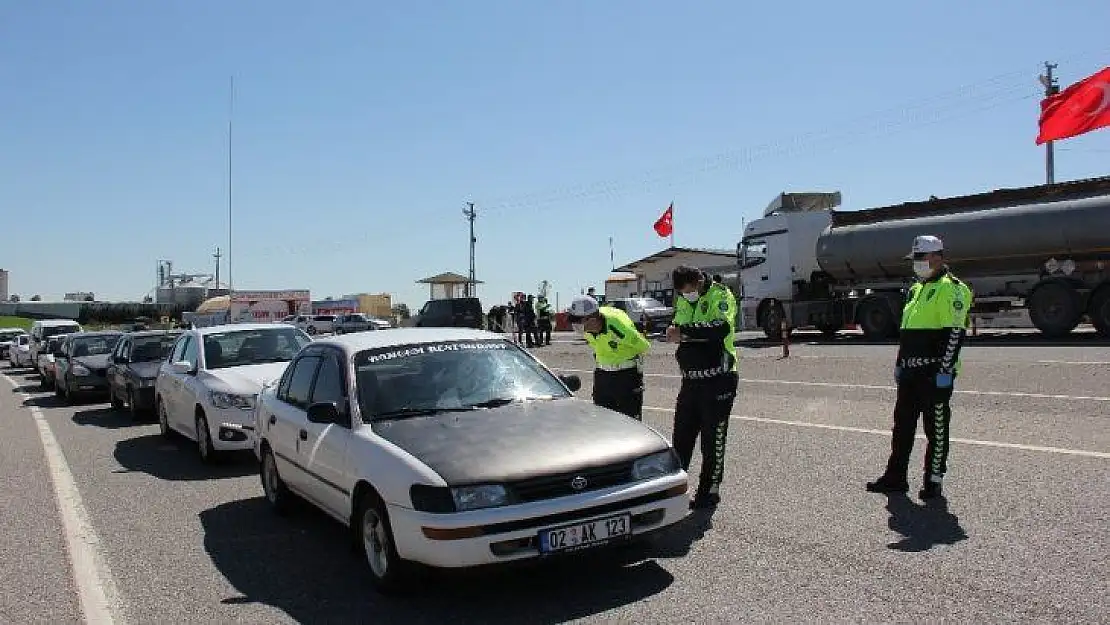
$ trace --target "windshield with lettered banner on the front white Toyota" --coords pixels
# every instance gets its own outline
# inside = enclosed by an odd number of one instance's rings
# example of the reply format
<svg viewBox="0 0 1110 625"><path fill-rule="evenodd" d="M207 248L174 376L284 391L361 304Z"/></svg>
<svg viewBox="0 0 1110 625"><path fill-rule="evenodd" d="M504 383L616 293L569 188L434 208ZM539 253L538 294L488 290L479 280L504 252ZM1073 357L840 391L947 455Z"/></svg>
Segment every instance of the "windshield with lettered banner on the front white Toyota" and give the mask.
<svg viewBox="0 0 1110 625"><path fill-rule="evenodd" d="M369 419L571 396L527 353L497 339L366 350L355 354L354 367L359 405Z"/></svg>

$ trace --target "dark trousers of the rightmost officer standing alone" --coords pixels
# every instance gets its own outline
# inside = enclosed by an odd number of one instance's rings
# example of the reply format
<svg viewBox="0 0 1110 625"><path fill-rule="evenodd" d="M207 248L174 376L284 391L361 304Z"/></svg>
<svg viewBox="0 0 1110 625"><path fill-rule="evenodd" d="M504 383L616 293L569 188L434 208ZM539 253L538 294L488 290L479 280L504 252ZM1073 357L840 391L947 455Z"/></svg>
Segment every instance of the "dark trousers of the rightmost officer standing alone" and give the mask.
<svg viewBox="0 0 1110 625"><path fill-rule="evenodd" d="M914 436L917 434L917 420L920 416L928 440L924 473L926 478L931 475L935 476L935 481L940 481L948 470L951 399L951 389L937 389L935 373L927 371L902 373L901 380L898 381L898 397L895 400L895 424L890 437L887 478L895 482L907 481L909 456L914 452Z"/></svg>

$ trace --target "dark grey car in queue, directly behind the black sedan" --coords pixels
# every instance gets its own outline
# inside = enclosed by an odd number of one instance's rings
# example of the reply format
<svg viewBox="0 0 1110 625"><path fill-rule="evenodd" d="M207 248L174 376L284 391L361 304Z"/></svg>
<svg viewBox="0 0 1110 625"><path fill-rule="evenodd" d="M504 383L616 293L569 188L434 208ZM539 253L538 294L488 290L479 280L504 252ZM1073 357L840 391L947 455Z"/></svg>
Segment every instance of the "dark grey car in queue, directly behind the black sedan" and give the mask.
<svg viewBox="0 0 1110 625"><path fill-rule="evenodd" d="M54 394L67 402L78 395L107 395L108 359L121 336L118 330L67 336L54 352Z"/></svg>

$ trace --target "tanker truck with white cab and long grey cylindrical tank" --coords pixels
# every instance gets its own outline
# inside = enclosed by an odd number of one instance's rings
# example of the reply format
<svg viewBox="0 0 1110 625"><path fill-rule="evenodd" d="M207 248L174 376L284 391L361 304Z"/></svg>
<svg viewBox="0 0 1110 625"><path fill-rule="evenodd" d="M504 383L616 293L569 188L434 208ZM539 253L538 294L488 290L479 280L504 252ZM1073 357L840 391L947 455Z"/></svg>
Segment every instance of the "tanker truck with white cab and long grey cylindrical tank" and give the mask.
<svg viewBox="0 0 1110 625"><path fill-rule="evenodd" d="M975 293L972 319L1025 309L1046 336L1084 317L1110 336L1110 177L836 210L839 192L780 193L737 245L740 317L768 337L858 325L898 335L914 238L945 242Z"/></svg>

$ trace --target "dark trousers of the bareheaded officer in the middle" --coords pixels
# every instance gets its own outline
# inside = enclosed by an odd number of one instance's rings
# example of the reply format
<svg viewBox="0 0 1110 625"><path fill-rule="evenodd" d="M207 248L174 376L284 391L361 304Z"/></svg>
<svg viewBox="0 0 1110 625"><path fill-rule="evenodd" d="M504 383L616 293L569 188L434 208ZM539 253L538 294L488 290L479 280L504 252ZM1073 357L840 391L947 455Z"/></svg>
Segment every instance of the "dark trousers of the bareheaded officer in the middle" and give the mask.
<svg viewBox="0 0 1110 625"><path fill-rule="evenodd" d="M739 374L729 373L708 380L683 380L678 390L672 443L683 468L689 470L694 442L702 437L698 495L716 493L725 476L725 443L738 386Z"/></svg>

